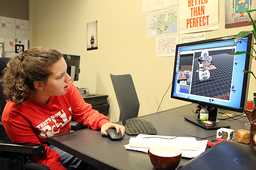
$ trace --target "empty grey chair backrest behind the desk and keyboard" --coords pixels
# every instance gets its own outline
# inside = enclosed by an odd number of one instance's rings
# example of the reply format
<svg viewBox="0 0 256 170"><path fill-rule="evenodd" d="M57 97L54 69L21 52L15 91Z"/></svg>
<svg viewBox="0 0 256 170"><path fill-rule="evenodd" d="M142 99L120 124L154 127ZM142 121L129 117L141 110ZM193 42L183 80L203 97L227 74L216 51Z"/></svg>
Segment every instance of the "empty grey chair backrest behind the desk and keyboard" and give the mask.
<svg viewBox="0 0 256 170"><path fill-rule="evenodd" d="M131 74L113 75L110 74L116 99L120 108L119 121L138 117L140 102L132 81Z"/></svg>

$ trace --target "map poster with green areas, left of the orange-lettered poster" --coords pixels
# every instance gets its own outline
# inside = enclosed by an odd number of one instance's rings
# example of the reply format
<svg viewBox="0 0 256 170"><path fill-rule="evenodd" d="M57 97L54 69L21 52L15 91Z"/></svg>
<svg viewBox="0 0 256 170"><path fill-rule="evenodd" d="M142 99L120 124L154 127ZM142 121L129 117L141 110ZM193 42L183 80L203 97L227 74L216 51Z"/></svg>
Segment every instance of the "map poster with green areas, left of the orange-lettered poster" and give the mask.
<svg viewBox="0 0 256 170"><path fill-rule="evenodd" d="M148 13L148 37L178 33L177 8Z"/></svg>

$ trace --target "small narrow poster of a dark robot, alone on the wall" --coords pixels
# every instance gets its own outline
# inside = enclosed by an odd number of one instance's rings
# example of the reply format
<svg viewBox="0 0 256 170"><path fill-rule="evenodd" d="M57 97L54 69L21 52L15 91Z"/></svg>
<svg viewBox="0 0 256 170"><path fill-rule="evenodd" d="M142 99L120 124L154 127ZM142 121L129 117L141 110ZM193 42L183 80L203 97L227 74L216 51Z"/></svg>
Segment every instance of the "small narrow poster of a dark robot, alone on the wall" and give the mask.
<svg viewBox="0 0 256 170"><path fill-rule="evenodd" d="M97 20L87 23L87 50L98 49L97 23Z"/></svg>

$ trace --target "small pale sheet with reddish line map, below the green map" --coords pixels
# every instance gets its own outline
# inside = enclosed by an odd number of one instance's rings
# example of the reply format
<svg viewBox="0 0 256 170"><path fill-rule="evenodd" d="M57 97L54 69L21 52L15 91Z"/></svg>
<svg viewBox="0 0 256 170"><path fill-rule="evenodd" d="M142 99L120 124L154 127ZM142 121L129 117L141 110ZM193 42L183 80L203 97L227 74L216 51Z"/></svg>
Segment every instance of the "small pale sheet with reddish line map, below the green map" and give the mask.
<svg viewBox="0 0 256 170"><path fill-rule="evenodd" d="M156 38L156 57L174 56L178 36L162 36Z"/></svg>

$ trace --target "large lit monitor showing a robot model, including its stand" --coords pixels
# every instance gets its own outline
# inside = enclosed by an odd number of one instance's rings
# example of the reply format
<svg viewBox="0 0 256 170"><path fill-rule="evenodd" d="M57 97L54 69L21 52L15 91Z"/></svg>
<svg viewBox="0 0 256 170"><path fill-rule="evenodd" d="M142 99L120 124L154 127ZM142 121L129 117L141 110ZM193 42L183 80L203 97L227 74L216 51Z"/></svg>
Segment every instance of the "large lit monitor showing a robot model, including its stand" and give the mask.
<svg viewBox="0 0 256 170"><path fill-rule="evenodd" d="M171 97L197 103L209 111L209 120L216 122L219 108L243 112L248 89L250 55L232 55L238 51L250 52L252 34L234 45L234 37L207 39L176 46ZM196 109L196 108L195 108ZM192 112L191 112L192 113ZM195 118L189 122L205 127ZM211 129L230 127L214 123Z"/></svg>

